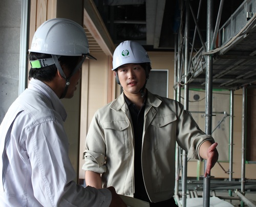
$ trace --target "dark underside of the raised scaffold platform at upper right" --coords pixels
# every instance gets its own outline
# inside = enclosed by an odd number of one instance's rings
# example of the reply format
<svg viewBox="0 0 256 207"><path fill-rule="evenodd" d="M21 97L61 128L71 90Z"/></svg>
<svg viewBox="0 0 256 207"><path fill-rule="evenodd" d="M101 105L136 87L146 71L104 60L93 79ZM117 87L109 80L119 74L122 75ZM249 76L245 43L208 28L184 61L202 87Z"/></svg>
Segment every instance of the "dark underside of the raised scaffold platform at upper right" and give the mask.
<svg viewBox="0 0 256 207"><path fill-rule="evenodd" d="M248 30L246 31L248 32ZM249 32L240 36L230 44L228 49L220 49L213 60L213 80L214 88L240 89L256 88L256 24L249 29ZM206 62L201 59L199 53L194 57L195 64L200 62L201 68L194 70L191 87L205 86ZM200 60L199 60L200 59Z"/></svg>

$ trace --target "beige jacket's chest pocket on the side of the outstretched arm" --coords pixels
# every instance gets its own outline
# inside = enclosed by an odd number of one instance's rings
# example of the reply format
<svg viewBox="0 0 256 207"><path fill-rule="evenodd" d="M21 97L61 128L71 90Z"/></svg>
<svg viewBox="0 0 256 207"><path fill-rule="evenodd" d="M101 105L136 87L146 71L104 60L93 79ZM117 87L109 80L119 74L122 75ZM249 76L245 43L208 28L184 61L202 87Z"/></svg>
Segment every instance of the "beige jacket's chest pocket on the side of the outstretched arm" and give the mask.
<svg viewBox="0 0 256 207"><path fill-rule="evenodd" d="M176 142L176 114L156 116L151 122L151 144L155 149L172 149Z"/></svg>

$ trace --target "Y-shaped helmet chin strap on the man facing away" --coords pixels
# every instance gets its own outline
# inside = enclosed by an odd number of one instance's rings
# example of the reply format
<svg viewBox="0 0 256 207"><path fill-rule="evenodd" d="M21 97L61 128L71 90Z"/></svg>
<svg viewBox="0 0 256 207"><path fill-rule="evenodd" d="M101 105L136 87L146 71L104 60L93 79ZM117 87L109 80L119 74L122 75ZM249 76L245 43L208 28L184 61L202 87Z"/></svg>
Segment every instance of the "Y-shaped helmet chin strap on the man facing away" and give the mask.
<svg viewBox="0 0 256 207"><path fill-rule="evenodd" d="M64 98L67 94L67 91L68 91L68 88L69 88L69 85L70 85L70 79L72 77L73 74L76 73L76 71L81 67L83 61L86 59L86 55L83 56L82 60L77 64L77 66L75 67L75 69L73 70L73 72L71 73L71 75L69 77L66 77L65 73L63 72L60 64L59 64L59 61L58 61L58 57L56 55L52 55L52 58L53 58L53 61L58 69L58 71L60 72L61 76L63 77L63 79L66 80L66 85L65 85L65 89L62 93L62 95L60 96L60 99L61 98Z"/></svg>

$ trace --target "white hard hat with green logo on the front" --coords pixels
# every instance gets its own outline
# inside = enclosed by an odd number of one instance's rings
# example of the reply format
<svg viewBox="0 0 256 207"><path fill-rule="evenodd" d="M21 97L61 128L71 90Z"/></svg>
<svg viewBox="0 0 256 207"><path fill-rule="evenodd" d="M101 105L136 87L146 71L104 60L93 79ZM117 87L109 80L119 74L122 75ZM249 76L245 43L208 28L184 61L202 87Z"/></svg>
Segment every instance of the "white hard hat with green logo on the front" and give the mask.
<svg viewBox="0 0 256 207"><path fill-rule="evenodd" d="M121 42L114 51L112 70L128 63L151 63L146 50L138 42Z"/></svg>

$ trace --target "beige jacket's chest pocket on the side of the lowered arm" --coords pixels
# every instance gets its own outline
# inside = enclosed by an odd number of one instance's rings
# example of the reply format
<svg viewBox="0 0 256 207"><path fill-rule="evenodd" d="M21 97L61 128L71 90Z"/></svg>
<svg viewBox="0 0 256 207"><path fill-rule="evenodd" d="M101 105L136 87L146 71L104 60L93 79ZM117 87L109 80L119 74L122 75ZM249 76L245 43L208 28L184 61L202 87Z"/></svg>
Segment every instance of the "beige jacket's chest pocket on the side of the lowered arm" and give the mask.
<svg viewBox="0 0 256 207"><path fill-rule="evenodd" d="M107 154L120 156L129 153L129 136L132 140L132 133L128 120L105 121L101 126L105 134Z"/></svg>

